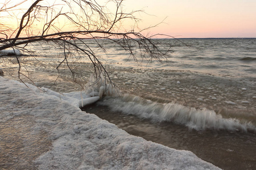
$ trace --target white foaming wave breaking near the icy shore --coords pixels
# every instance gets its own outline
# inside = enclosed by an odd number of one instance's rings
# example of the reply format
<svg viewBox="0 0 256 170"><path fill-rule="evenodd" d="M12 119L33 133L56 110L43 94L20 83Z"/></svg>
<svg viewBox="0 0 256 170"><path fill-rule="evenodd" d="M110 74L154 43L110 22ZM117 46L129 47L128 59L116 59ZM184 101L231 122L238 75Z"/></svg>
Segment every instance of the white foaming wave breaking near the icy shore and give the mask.
<svg viewBox="0 0 256 170"><path fill-rule="evenodd" d="M223 118L221 114L208 109L195 109L176 103L157 103L139 96L124 95L110 97L98 103L106 105L112 111L133 114L153 122L175 122L195 130L228 130L256 132L254 125L241 123L236 118Z"/></svg>

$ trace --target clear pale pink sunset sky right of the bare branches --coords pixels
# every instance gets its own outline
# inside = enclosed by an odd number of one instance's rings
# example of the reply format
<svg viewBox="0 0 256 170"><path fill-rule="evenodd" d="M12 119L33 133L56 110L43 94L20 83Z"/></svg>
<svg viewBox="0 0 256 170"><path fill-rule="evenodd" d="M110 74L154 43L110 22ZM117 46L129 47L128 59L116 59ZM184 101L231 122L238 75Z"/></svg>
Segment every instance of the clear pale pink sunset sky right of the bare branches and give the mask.
<svg viewBox="0 0 256 170"><path fill-rule="evenodd" d="M256 37L255 0L127 0L127 10L142 9L148 14L141 27L163 24L150 33L187 37ZM152 16L155 15L155 16Z"/></svg>

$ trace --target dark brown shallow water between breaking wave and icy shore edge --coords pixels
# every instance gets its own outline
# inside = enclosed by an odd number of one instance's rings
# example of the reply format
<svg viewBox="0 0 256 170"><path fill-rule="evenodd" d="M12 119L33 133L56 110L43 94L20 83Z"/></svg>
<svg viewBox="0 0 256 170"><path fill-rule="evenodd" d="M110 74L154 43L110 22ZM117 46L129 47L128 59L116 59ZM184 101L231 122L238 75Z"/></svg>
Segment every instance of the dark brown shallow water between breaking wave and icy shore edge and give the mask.
<svg viewBox="0 0 256 170"><path fill-rule="evenodd" d="M222 169L256 167L256 135L228 131L188 130L172 122L154 123L133 115L113 112L101 105L90 105L83 111L108 120L129 134L179 150L189 150L199 158Z"/></svg>

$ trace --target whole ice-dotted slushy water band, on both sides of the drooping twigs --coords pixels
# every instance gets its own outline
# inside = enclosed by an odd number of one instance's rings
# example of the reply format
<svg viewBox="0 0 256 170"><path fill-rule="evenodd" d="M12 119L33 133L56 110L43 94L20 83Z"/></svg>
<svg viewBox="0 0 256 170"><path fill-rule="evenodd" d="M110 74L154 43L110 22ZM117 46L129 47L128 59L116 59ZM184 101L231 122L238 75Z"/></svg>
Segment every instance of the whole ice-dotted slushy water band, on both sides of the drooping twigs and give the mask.
<svg viewBox="0 0 256 170"><path fill-rule="evenodd" d="M38 87L53 91L81 91L89 80L90 65L81 70L78 84L72 82L68 70L62 70L55 82L56 71L31 71L30 78ZM108 67L110 78L122 94L131 94L159 103L177 103L196 109L207 108L225 118L239 118L256 126L255 79L242 79L185 70L135 69ZM6 69L13 79L14 70ZM11 75L11 76L10 76ZM25 82L31 83L30 80ZM33 82L34 83L34 82Z"/></svg>

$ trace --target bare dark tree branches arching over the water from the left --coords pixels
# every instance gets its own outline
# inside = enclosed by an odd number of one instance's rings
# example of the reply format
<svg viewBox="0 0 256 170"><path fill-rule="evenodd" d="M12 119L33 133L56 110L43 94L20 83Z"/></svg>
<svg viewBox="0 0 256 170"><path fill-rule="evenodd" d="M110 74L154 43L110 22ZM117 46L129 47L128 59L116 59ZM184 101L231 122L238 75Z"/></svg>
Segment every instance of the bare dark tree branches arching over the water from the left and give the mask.
<svg viewBox="0 0 256 170"><path fill-rule="evenodd" d="M15 5L10 5L10 1L5 1L0 4L0 12L18 10L21 4L28 2L27 0L20 1ZM104 73L109 78L97 54L86 42L88 39L94 40L103 52L107 49L99 41L101 39L121 46L135 61L151 62L152 59L156 59L162 62L166 59L166 54L170 49L160 50L158 43L152 39L154 36L143 35L143 31L150 27L138 32L134 31L135 28L131 31L122 29L121 25L126 20L131 20L133 25L137 25L138 19L135 14L141 12L140 10L123 12L123 2L123 0L110 0L99 4L99 1L59 0L52 3L48 0L35 0L21 18L17 18L19 22L17 28L0 27L0 50L16 48L30 53L28 47L35 42L51 42L62 48L64 52L63 60L56 67L58 73L60 74L60 66L67 66L74 82L76 82L76 67L73 68L68 62L72 52L88 58L93 64L96 76ZM115 10L110 11L108 6L115 7ZM24 75L21 71L22 65L20 65L19 57L16 57L16 60L19 65L18 76Z"/></svg>

